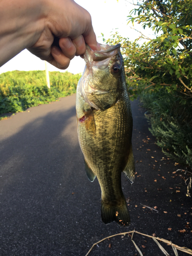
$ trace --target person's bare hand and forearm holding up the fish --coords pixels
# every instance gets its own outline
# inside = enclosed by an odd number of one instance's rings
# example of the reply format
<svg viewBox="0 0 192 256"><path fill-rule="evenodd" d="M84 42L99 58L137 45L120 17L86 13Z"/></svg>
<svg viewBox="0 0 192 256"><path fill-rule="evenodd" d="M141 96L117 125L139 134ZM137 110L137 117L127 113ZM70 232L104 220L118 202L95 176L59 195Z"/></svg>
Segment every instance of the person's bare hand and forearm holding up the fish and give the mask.
<svg viewBox="0 0 192 256"><path fill-rule="evenodd" d="M0 67L26 48L59 69L86 44L100 50L89 12L73 0L1 0L0 25Z"/></svg>

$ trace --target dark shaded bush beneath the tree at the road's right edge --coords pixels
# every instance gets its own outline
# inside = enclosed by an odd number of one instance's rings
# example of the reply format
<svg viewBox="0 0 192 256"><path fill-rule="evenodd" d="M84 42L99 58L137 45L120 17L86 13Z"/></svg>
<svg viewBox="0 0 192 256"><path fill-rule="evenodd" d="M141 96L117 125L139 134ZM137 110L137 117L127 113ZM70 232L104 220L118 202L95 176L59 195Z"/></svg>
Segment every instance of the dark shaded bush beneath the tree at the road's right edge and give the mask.
<svg viewBox="0 0 192 256"><path fill-rule="evenodd" d="M181 104L179 98L161 89L155 94L141 95L146 115L151 122L151 133L157 145L168 157L192 167L192 104Z"/></svg>

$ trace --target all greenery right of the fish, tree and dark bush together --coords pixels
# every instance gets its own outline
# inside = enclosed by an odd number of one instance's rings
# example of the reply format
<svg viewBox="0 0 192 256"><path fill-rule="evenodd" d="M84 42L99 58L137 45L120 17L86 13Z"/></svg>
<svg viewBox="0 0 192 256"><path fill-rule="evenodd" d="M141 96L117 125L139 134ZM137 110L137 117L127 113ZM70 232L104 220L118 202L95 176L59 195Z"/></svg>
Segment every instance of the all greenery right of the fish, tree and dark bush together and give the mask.
<svg viewBox="0 0 192 256"><path fill-rule="evenodd" d="M150 131L165 155L184 164L191 173L191 1L141 0L134 7L129 23L151 28L154 37L140 34L130 41L116 32L103 41L121 44L130 98L139 97L147 110ZM144 43L139 41L141 38Z"/></svg>

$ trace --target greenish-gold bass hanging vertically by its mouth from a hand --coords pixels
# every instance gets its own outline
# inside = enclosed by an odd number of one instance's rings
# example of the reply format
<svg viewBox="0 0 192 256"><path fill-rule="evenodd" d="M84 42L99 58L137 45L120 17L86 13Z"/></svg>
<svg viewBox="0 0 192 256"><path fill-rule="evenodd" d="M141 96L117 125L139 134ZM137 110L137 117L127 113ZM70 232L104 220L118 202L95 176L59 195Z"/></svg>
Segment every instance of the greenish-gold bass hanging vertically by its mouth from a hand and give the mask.
<svg viewBox="0 0 192 256"><path fill-rule="evenodd" d="M129 226L130 215L121 187L121 173L132 184L133 118L126 87L120 44L88 45L86 62L76 91L77 133L88 179L97 177L101 188L101 219Z"/></svg>

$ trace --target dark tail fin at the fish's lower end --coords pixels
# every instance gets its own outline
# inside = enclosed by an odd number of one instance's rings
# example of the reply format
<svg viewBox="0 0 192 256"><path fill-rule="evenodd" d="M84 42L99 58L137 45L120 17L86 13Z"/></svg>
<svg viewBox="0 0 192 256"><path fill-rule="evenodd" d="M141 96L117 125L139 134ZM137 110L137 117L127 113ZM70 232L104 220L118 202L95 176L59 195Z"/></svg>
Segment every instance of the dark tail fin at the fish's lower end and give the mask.
<svg viewBox="0 0 192 256"><path fill-rule="evenodd" d="M101 201L101 219L104 224L116 221L120 226L129 226L130 214L126 207L126 202L120 206L105 204Z"/></svg>

